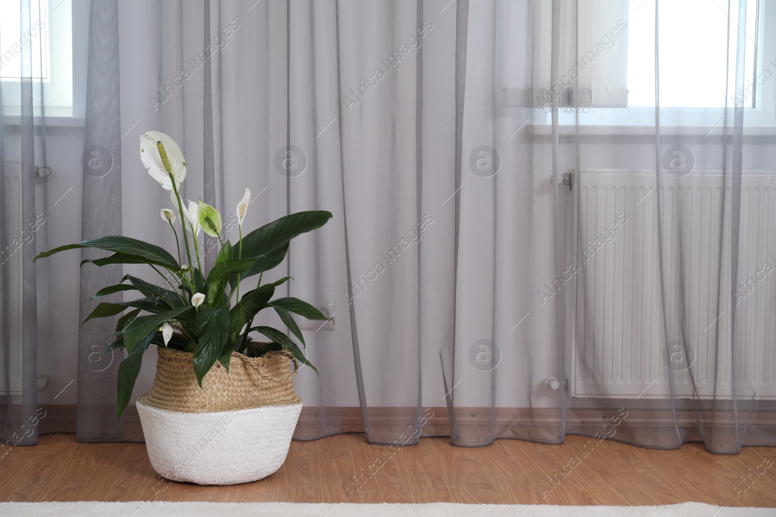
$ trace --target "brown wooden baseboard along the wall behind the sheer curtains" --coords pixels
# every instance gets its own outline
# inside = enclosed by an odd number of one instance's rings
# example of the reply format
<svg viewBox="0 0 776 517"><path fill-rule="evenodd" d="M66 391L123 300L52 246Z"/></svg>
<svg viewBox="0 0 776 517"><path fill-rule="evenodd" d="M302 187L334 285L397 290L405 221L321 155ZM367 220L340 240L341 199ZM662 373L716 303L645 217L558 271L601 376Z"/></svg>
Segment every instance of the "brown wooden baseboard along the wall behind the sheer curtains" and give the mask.
<svg viewBox="0 0 776 517"><path fill-rule="evenodd" d="M45 416L39 420L39 434L76 432L76 405L47 404L40 406L40 409L41 414ZM711 413L708 415L710 419ZM12 416L17 420L20 418L21 408L18 405L12 406ZM402 433L412 433L417 436L417 429L421 429L420 436L449 436L451 433L451 419L448 408L444 406L420 410L400 407L369 408L367 415L362 415L360 407L307 406L302 408L294 438L313 439L326 434L364 433L365 416L372 432L379 436L400 436ZM560 411L556 408L455 408L453 420L457 432L462 436L485 431L490 436L527 436L528 439L549 441L542 437L557 435L553 433L553 429L559 427L560 417ZM732 410L718 412L715 415L714 426L717 429L740 427L743 418L735 417L736 414ZM750 438L753 435L776 434L776 412L753 412L747 417L750 426L750 429L747 429L747 435ZM695 411L692 410L671 412L661 409L625 409L621 411L608 408L569 409L566 412L566 433L588 436L598 433L603 436L608 434L605 428L607 424L611 425L611 422L620 422L620 420L627 421L627 426L617 423L622 430L637 429L640 433L647 433L673 428L678 429L684 436L694 436L698 433L698 420ZM95 436L92 439L88 436L79 436L79 439L95 442L144 441L140 418L134 405L127 406L122 421L123 436L116 436L116 439L106 439L103 436ZM710 421L704 420L704 424L709 426ZM534 435L532 429L537 432L543 430L545 433ZM549 433L546 433L547 431ZM625 441L630 440L625 439Z"/></svg>

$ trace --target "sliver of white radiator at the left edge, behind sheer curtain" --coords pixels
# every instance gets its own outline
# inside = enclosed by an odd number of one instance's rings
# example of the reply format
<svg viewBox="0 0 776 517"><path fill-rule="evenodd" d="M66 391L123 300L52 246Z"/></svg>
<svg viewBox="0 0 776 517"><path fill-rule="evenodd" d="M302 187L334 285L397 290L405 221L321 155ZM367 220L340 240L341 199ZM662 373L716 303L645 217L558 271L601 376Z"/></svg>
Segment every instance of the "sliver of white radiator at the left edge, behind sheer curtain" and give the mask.
<svg viewBox="0 0 776 517"><path fill-rule="evenodd" d="M6 234L9 241L17 240L17 243L23 242L22 236L22 166L19 162L5 161L3 162L3 172L5 175L5 197L0 200L2 203L7 203L7 213L9 215L8 221L2 221L7 229ZM22 394L22 350L20 343L22 343L22 250L26 244L21 244L17 250L12 244L5 250L0 250L0 267L7 268L9 284L3 285L3 277L0 276L0 292L8 291L8 299L11 301L9 304L10 321L9 328L10 343L6 343L9 346L9 381L10 381L10 395ZM26 257L30 257L29 253ZM2 304L2 298L0 298L0 304ZM0 305L2 306L2 305ZM5 329L3 329L2 318L0 318L0 336L3 335ZM0 353L0 395L9 395L5 391L6 377L5 377L5 354Z"/></svg>

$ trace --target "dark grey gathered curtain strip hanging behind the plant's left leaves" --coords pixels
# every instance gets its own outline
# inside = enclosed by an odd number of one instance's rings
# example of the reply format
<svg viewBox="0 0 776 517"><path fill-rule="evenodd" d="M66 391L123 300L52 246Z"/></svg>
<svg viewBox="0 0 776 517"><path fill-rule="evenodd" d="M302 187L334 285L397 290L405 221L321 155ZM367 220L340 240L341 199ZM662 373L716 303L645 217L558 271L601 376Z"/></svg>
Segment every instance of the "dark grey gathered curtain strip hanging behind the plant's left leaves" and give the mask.
<svg viewBox="0 0 776 517"><path fill-rule="evenodd" d="M122 235L121 95L118 2L92 2L89 9L86 115L81 181L81 240ZM81 260L102 257L81 249ZM82 267L78 319L83 321L97 302L89 298L106 285L118 284L121 264ZM101 302L121 302L108 295ZM116 330L118 317L92 319L78 333L78 441L125 438L125 420L116 419L116 376L122 353L101 354L106 336Z"/></svg>

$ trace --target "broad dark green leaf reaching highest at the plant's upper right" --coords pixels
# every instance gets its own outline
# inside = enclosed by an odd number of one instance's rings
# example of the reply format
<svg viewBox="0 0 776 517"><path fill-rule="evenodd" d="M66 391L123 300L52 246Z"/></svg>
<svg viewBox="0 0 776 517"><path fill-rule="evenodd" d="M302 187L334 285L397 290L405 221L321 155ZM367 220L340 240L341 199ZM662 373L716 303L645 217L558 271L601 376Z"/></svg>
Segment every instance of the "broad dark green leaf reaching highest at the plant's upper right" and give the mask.
<svg viewBox="0 0 776 517"><path fill-rule="evenodd" d="M242 240L242 257L255 257L258 260L245 271L243 277L268 271L280 264L286 257L290 240L300 233L324 226L329 219L331 212L325 210L297 212L248 233Z"/></svg>

